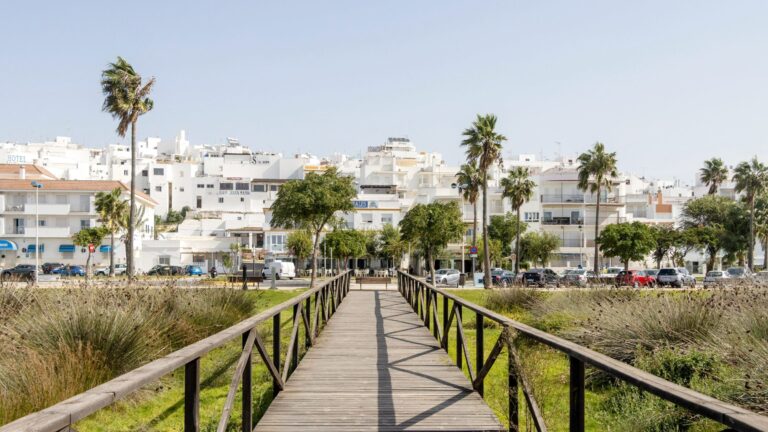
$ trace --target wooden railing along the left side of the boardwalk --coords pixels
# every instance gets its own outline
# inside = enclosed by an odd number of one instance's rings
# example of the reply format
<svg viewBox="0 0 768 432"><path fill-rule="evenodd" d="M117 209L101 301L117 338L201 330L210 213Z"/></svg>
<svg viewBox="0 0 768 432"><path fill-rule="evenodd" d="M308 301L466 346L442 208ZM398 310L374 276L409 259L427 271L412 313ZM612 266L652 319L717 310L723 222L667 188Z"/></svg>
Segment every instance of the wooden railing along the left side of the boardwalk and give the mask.
<svg viewBox="0 0 768 432"><path fill-rule="evenodd" d="M217 431L226 430L238 387L242 392L242 430L252 427L251 363L254 346L272 376L275 394L283 389L299 363L299 328L304 327L305 345L311 347L323 324L336 312L349 293L350 272L342 273L323 285L308 290L286 302L243 320L232 327L188 345L165 357L147 363L111 381L42 411L22 417L5 426L0 432L58 432L74 430L78 420L107 407L136 392L143 386L184 367L184 431L200 430L200 358L209 351L240 336L242 352L235 365L235 373L227 393ZM280 353L280 314L292 312L292 328L284 361ZM272 354L270 356L257 326L272 320ZM240 385L242 383L242 386Z"/></svg>

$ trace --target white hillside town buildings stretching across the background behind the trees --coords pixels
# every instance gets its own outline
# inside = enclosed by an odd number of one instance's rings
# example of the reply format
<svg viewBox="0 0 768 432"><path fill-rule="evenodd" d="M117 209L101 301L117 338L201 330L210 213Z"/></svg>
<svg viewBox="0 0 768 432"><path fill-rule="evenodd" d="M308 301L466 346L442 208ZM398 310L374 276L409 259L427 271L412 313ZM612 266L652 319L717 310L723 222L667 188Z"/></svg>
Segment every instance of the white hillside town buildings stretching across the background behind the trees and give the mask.
<svg viewBox="0 0 768 432"><path fill-rule="evenodd" d="M0 143L0 268L34 263L38 248L40 263L83 265L87 251L75 246L72 236L81 228L101 223L96 194L118 188L127 199L130 161L129 145L93 148L68 137ZM234 138L224 144L193 144L182 130L172 139L150 137L137 143L136 196L141 217L133 246L136 271L146 272L155 265L196 265L226 273L242 260L261 264L293 260L287 247L290 230L271 227L270 208L286 181L330 167L354 179L354 211L341 215L346 228L377 231L397 225L416 204L458 203L466 235L462 243L449 245L437 268L472 270L470 245L475 212L482 217L482 197L477 206L464 199L457 180L461 167L448 164L440 153L421 151L408 138L390 137L380 145L368 146L360 156L287 155L254 150ZM589 267L594 259L597 198L578 188L576 155L505 155L503 163L489 172L489 217L514 210L502 198L500 179L515 167L527 168L535 183L532 199L520 208L527 231L558 239L548 266ZM634 221L679 225L686 202L708 192L697 173L688 174L695 179L693 183L620 173L612 180L611 190L600 197L600 227ZM34 188L32 181L42 187ZM720 185L718 193L737 198L729 181ZM755 264L763 266L759 243ZM108 265L111 249L116 263L124 263L124 233L114 244L106 239L98 245L91 265ZM229 258L233 252L234 260ZM324 268L334 267L332 254L320 250ZM602 268L621 265L615 259L599 258ZM691 250L685 266L692 273L703 273L706 260L702 251ZM350 266L386 269L392 263L358 257ZM410 260L406 253L401 266L420 271L424 263Z"/></svg>

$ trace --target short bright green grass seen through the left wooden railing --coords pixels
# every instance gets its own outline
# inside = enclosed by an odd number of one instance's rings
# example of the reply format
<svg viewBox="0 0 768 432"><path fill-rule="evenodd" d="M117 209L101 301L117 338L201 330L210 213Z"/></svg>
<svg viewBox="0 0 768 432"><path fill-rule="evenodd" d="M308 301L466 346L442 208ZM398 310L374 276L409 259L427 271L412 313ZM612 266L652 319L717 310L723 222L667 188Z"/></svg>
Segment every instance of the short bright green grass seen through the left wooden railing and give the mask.
<svg viewBox="0 0 768 432"><path fill-rule="evenodd" d="M258 292L254 295L254 311L282 303L302 291ZM287 335L290 334L292 325L290 313L283 312L281 321L282 352L285 353ZM270 321L259 327L264 343L268 347L272 346L271 326ZM303 341L303 331L301 336L300 340ZM241 341L234 340L209 352L200 361L200 425L203 431L216 429L229 391L235 363L241 352L240 347ZM272 401L272 379L255 350L252 383L254 420L257 420ZM239 430L241 424L240 388L230 415L228 430ZM148 385L137 395L78 422L75 428L78 431L178 431L183 428L183 424L184 368L180 368L162 380Z"/></svg>

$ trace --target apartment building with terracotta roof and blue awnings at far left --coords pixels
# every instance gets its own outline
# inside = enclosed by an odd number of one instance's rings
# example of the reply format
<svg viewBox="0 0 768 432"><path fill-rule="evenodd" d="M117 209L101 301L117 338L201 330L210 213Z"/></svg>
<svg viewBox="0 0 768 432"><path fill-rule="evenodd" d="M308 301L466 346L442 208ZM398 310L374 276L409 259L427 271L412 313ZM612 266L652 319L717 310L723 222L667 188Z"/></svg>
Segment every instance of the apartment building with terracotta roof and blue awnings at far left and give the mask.
<svg viewBox="0 0 768 432"><path fill-rule="evenodd" d="M9 178L14 172L16 178ZM99 225L95 209L98 192L115 188L124 191L128 187L111 180L56 180L45 169L35 166L0 165L0 267L7 268L21 263L33 263L39 254L40 262L52 261L65 264L84 264L86 253L72 243L72 236L83 228ZM42 185L35 188L32 182ZM150 197L137 194L138 205L143 210L142 224L137 229L135 247L141 254L142 242L152 238L154 230L154 206ZM35 238L39 242L35 242ZM118 262L124 262L122 242L109 244L109 239L99 245L94 257L95 264L109 260L110 248L114 247Z"/></svg>

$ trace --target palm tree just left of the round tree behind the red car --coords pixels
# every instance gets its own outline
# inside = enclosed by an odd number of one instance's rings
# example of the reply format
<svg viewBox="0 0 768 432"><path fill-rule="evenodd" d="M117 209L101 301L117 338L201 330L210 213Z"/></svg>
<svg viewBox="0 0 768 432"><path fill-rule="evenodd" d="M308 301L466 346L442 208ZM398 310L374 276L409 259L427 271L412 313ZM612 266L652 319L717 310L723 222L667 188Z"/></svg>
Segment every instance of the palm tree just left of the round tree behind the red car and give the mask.
<svg viewBox="0 0 768 432"><path fill-rule="evenodd" d="M598 272L598 253L600 246L600 194L603 188L611 190L612 179L618 177L616 153L606 153L603 143L595 143L592 150L579 155L579 189L596 194L595 206L595 273Z"/></svg>

